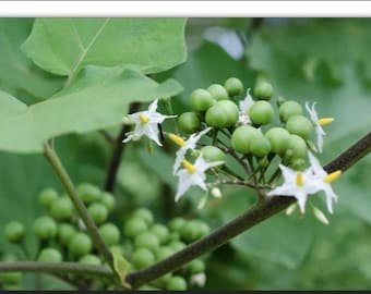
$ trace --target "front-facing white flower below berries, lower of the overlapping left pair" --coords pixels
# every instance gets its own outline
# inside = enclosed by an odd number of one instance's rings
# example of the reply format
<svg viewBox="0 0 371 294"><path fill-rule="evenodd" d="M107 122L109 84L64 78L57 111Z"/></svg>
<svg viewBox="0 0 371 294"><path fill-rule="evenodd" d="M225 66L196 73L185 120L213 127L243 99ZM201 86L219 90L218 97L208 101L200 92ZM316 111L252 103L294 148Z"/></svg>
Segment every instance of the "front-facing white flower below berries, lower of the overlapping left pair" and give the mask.
<svg viewBox="0 0 371 294"><path fill-rule="evenodd" d="M198 157L194 164L189 162L188 160L182 160L183 169L180 169L177 172L179 176L178 191L176 194L176 201L180 199L180 197L191 187L199 186L204 191L207 191L205 181L206 174L205 172L214 167L224 164L224 161L212 161L207 162L202 154Z"/></svg>

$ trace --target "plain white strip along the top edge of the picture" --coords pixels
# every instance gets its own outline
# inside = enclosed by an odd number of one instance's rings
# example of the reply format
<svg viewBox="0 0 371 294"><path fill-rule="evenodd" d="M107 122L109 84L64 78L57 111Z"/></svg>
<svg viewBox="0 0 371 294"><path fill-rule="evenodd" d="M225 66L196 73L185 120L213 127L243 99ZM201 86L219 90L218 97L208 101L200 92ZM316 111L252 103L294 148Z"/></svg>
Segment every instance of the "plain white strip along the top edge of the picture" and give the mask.
<svg viewBox="0 0 371 294"><path fill-rule="evenodd" d="M0 1L1 16L371 16L368 1Z"/></svg>

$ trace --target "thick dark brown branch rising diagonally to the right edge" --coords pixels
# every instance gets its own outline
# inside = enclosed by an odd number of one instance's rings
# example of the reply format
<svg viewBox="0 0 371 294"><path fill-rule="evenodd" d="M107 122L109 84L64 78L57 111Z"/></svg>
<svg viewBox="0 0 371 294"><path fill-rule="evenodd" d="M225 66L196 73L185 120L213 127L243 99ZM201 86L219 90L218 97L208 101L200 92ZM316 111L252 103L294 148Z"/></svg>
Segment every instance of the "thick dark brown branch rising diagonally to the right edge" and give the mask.
<svg viewBox="0 0 371 294"><path fill-rule="evenodd" d="M328 173L336 170L342 170L344 172L357 161L359 161L362 157L367 156L370 150L371 132L349 147L340 156L326 164L324 169ZM280 210L287 208L294 201L294 197L273 197L265 199L263 203L253 206L248 211L241 213L230 222L218 228L210 235L193 242L184 249L146 269L128 274L127 282L131 284L132 287L137 287L161 277L167 272L175 271L194 258L222 246L230 238L276 215Z"/></svg>

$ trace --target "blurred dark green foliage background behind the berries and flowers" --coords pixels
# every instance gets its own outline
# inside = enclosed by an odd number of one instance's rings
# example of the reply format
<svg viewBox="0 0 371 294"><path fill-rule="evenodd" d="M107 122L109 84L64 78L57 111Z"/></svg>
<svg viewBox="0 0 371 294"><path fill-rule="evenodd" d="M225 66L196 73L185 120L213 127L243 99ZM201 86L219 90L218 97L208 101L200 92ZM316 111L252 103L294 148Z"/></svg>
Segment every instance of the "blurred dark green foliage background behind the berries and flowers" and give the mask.
<svg viewBox="0 0 371 294"><path fill-rule="evenodd" d="M21 57L15 48L29 34L32 23L33 20L23 21L24 35L11 38L14 47L8 56L1 54L0 65L5 59ZM2 23L0 44L10 34L10 28L3 27ZM275 98L283 96L301 103L316 101L320 117L335 118L325 128L327 136L320 157L325 163L370 131L370 32L369 19L189 19L187 61L154 78L173 77L183 85L184 91L172 100L177 113L187 109L187 99L194 88L223 84L230 76L241 78L246 88L253 87L259 76L265 76L274 86ZM27 102L35 102L36 96L47 96L60 85L58 77L44 76L50 88L37 79L35 87L43 93L33 96L14 89L4 70L0 88L21 93ZM111 134L118 131L109 130ZM103 185L111 146L99 133L63 136L56 146L75 183ZM141 143L128 145L116 189L115 220L120 225L132 208L145 206L159 221L199 216L217 228L252 204L252 193L237 187L224 188L223 198L213 199L203 210L196 209L202 196L196 189L175 204L172 155L158 148L149 155ZM31 225L43 213L38 192L46 186L61 191L61 186L41 156L0 152L0 230L13 219ZM328 217L330 225L310 212L304 218L282 212L214 252L207 261L206 289L370 289L370 168L368 156L334 184L339 200L335 213ZM321 197L313 203L325 207ZM27 245L34 250L36 242L32 235L28 240ZM16 250L2 237L0 248ZM34 283L29 277L25 279L27 289Z"/></svg>

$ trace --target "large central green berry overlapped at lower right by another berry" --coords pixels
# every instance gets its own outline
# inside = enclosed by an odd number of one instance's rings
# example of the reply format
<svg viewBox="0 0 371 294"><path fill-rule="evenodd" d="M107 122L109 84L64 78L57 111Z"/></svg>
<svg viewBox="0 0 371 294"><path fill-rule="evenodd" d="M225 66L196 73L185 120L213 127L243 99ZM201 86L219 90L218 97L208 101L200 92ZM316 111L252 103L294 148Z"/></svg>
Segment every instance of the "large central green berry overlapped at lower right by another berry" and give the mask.
<svg viewBox="0 0 371 294"><path fill-rule="evenodd" d="M251 143L260 137L261 133L256 128L250 125L241 125L231 135L231 146L236 151L249 154Z"/></svg>

